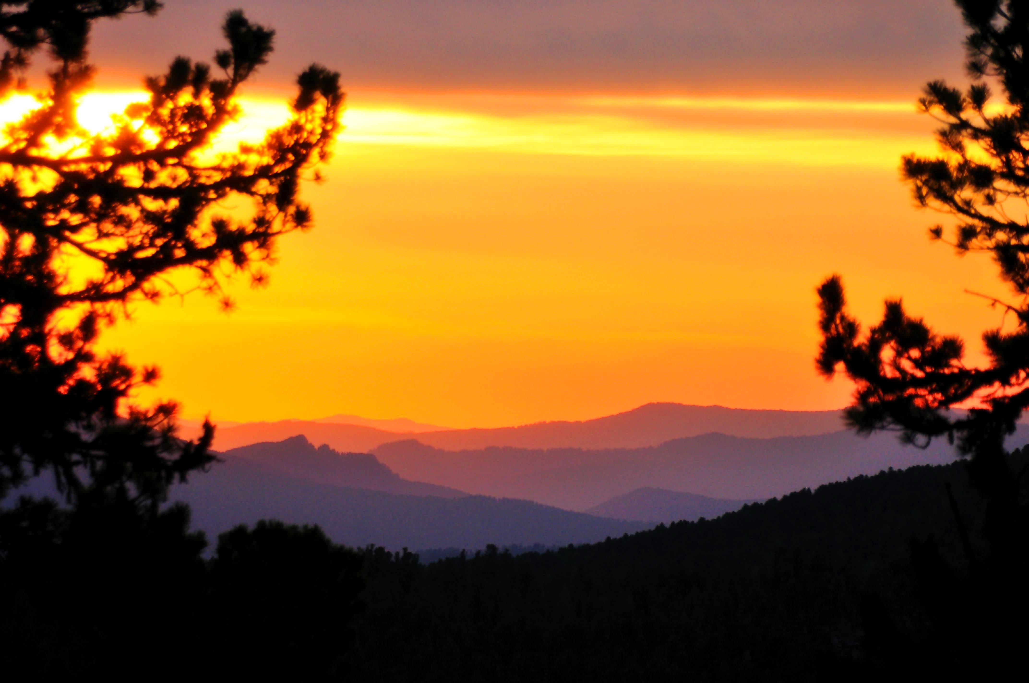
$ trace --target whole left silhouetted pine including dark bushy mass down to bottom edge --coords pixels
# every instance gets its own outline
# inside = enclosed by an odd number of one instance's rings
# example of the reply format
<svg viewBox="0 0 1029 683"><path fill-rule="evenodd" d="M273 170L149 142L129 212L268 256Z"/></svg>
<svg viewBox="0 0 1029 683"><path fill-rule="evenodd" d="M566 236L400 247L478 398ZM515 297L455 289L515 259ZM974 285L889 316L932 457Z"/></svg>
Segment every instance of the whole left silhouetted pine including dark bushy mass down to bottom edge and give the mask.
<svg viewBox="0 0 1029 683"><path fill-rule="evenodd" d="M188 509L162 504L214 461L213 427L184 441L175 404L132 405L156 369L100 354L97 339L135 302L183 293L184 282L225 307L227 278L262 283L277 238L311 224L297 186L330 153L344 95L339 75L314 65L284 125L212 153L275 36L233 11L213 68L176 58L111 129L83 130L92 23L159 7L0 2L0 95L24 86L40 49L55 65L39 106L0 137L0 676L257 678L264 664L285 678L301 657L300 680L321 680L336 673L357 555L317 529L264 525L232 532L204 561ZM227 215L226 200L249 209ZM9 500L37 475L55 477L63 500ZM263 650L241 650L241 634L259 635Z"/></svg>

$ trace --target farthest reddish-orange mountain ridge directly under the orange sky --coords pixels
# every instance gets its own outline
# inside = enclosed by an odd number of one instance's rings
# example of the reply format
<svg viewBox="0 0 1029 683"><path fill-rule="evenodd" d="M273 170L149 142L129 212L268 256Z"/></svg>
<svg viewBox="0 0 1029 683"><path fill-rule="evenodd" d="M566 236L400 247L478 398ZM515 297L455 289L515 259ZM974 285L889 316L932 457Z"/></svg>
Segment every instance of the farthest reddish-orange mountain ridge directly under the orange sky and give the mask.
<svg viewBox="0 0 1029 683"><path fill-rule="evenodd" d="M312 442L327 443L336 451L365 453L417 434L422 443L446 451L489 446L641 448L709 432L752 438L826 434L843 428L840 410L750 410L719 405L647 403L626 412L582 422L541 422L520 427L439 431L425 431L423 427L428 426L402 420L354 418L362 424L341 424L334 421L350 416L338 416L319 421L284 420L219 428L215 433L215 447L228 450L304 434ZM329 420L333 422L327 422ZM410 429L383 429L387 423L396 428L407 426ZM192 432L183 430L183 435L190 436Z"/></svg>

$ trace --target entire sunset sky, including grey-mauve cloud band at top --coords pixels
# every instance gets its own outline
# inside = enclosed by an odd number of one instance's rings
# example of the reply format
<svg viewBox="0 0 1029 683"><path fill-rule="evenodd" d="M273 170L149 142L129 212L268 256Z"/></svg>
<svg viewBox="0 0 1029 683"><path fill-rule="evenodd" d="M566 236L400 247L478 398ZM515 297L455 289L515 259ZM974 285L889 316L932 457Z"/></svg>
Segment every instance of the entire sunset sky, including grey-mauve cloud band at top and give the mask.
<svg viewBox="0 0 1029 683"><path fill-rule="evenodd" d="M1005 293L927 240L901 154L934 149L914 100L960 81L946 0L183 2L94 34L97 87L131 97L223 13L274 27L233 135L284 115L312 61L349 109L316 227L269 287L139 304L106 346L215 420L581 420L650 401L826 409L814 288L885 296L972 337ZM123 94L123 95L118 95ZM127 94L127 95L125 95Z"/></svg>

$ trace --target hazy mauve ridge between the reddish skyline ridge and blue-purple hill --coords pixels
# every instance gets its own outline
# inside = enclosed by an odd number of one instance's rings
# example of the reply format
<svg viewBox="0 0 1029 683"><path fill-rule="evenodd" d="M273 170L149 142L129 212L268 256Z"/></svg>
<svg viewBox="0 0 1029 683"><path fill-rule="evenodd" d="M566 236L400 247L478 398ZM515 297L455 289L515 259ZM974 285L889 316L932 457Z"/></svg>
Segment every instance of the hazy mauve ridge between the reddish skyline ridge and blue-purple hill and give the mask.
<svg viewBox="0 0 1029 683"><path fill-rule="evenodd" d="M1027 429L1009 439L1026 443ZM946 441L927 450L889 433L838 431L769 439L704 434L644 448L442 451L420 441L374 452L399 475L470 494L525 498L587 510L636 489L655 487L711 498L767 499L887 468L953 462Z"/></svg>

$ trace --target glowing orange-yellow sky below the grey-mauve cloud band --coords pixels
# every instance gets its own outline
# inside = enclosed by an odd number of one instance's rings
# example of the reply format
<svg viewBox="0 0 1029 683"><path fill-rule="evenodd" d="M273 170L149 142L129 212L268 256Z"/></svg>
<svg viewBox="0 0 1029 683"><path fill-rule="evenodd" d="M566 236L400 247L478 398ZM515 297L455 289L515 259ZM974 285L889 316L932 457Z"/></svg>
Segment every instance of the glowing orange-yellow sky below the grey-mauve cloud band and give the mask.
<svg viewBox="0 0 1029 683"><path fill-rule="evenodd" d="M233 140L284 114L264 85ZM865 321L902 294L978 350L1000 316L963 290L1005 292L929 243L938 217L899 182L902 153L934 148L917 91L805 87L351 89L327 181L304 188L316 228L281 242L270 287L235 287L230 315L139 304L104 344L159 365L141 398L191 418L453 427L840 407L850 387L813 362L831 273Z"/></svg>

